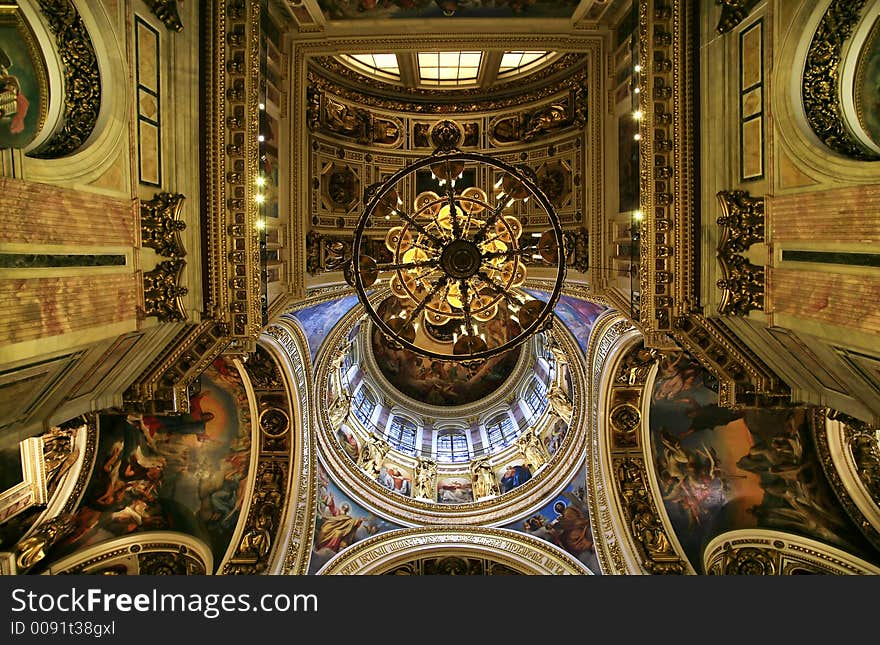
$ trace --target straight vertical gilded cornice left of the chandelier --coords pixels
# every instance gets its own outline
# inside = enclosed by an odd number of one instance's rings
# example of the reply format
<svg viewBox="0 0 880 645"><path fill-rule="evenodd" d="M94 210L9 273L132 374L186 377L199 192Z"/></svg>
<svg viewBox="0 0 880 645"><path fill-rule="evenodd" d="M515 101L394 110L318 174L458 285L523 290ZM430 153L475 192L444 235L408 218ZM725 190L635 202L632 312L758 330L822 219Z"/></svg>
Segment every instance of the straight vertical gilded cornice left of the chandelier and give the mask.
<svg viewBox="0 0 880 645"><path fill-rule="evenodd" d="M260 2L206 3L204 92L206 310L246 350L263 323L260 294Z"/></svg>

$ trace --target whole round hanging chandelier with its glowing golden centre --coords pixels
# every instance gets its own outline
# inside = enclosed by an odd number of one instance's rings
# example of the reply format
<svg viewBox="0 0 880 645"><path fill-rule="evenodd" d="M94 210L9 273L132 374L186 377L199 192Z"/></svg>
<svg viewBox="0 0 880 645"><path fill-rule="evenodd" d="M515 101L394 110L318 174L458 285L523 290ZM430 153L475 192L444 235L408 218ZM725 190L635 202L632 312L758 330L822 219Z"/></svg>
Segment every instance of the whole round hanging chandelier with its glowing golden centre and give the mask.
<svg viewBox="0 0 880 645"><path fill-rule="evenodd" d="M480 172L481 165L488 173ZM436 191L423 191L407 204L406 188L425 169ZM472 177L496 178L493 188L456 188L466 169ZM440 146L368 188L365 197L345 275L392 344L440 360L479 361L550 326L565 280L564 238L531 169ZM530 199L546 211L551 229L524 233L516 213ZM392 259L386 263L362 253L365 231L379 220L392 224L385 237ZM546 301L521 288L526 259L555 269ZM374 307L368 290L386 280L392 295Z"/></svg>

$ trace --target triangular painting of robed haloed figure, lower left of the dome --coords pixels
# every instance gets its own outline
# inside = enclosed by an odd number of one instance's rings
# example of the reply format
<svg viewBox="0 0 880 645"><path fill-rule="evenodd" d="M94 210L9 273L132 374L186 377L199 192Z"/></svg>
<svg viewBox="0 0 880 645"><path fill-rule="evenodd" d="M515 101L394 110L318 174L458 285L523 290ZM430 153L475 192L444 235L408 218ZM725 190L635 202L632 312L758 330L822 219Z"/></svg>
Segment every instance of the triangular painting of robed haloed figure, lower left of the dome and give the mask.
<svg viewBox="0 0 880 645"><path fill-rule="evenodd" d="M400 528L364 508L343 493L319 464L318 508L309 574L316 573L337 553L355 542Z"/></svg>

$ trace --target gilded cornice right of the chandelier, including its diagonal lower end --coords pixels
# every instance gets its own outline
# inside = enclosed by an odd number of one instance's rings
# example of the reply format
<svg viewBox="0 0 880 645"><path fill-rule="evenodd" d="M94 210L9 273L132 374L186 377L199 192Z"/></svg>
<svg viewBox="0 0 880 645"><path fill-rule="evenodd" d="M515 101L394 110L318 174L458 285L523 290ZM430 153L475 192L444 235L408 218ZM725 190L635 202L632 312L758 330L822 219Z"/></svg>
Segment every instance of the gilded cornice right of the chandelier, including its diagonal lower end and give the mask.
<svg viewBox="0 0 880 645"><path fill-rule="evenodd" d="M719 405L752 405L762 397L786 398L789 391L720 321L705 317L699 302L694 10L685 0L639 3L639 176L645 217L639 231L637 325L648 347L678 344L693 354L718 379ZM754 280L746 287L763 286L763 280L748 275ZM753 291L745 293L757 302Z"/></svg>

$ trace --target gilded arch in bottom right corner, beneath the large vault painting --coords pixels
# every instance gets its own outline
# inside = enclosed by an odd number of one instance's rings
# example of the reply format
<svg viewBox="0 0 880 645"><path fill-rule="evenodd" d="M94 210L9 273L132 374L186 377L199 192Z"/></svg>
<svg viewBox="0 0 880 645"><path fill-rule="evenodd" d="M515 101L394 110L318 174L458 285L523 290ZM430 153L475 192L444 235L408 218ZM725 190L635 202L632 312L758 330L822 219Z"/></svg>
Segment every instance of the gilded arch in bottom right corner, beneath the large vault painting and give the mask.
<svg viewBox="0 0 880 645"><path fill-rule="evenodd" d="M791 533L767 529L729 531L703 552L709 575L877 575L880 568L845 551Z"/></svg>

